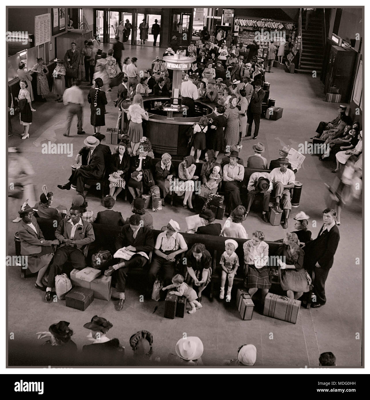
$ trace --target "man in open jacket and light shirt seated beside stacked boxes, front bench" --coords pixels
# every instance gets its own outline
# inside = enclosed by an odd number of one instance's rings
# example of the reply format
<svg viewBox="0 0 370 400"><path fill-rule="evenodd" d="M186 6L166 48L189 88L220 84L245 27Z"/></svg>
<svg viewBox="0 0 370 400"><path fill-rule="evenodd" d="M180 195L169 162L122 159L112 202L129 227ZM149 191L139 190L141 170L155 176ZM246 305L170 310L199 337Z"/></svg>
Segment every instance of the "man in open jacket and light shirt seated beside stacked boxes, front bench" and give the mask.
<svg viewBox="0 0 370 400"><path fill-rule="evenodd" d="M72 268L78 270L85 268L84 250L86 249L84 247L95 240L94 230L90 222L82 220L80 208L72 206L69 213L70 218L60 221L55 231L55 237L59 240L60 246L54 254L49 270L48 286L44 298L46 303L50 301L56 275L62 274L67 262L72 264Z"/></svg>

